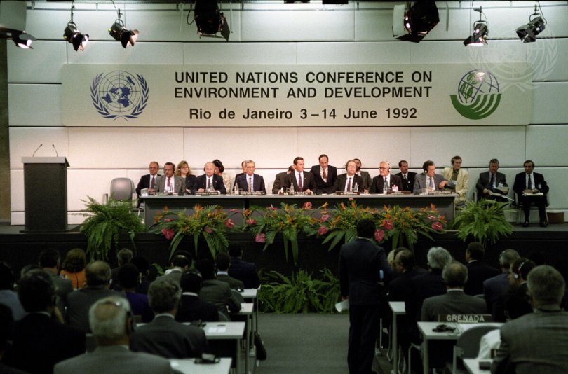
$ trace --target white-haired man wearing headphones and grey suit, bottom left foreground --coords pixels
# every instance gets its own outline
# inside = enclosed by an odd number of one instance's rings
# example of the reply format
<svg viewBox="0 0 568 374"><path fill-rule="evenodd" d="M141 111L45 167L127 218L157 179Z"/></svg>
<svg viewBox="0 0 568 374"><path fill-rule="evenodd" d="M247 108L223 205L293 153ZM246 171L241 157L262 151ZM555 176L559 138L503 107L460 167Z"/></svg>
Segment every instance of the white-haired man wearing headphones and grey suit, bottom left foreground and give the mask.
<svg viewBox="0 0 568 374"><path fill-rule="evenodd" d="M128 349L135 322L126 299L111 296L98 300L90 307L89 324L97 340L95 351L58 363L55 374L174 373L167 359Z"/></svg>

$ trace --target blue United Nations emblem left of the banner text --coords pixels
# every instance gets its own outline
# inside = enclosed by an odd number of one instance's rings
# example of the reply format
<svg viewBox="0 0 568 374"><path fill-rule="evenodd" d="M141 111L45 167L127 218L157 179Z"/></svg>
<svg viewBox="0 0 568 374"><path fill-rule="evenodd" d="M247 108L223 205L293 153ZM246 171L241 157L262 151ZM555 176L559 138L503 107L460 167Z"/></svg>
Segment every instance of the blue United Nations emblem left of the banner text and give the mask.
<svg viewBox="0 0 568 374"><path fill-rule="evenodd" d="M140 116L148 104L148 93L143 76L123 70L97 74L90 86L93 106L101 116L112 120Z"/></svg>

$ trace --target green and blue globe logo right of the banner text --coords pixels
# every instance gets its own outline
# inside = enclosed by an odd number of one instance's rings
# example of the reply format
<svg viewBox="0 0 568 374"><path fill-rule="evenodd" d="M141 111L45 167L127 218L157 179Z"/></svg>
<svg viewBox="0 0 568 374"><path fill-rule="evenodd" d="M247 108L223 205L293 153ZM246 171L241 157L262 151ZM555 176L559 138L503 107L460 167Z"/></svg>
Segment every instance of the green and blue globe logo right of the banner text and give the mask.
<svg viewBox="0 0 568 374"><path fill-rule="evenodd" d="M491 116L501 102L497 78L482 70L472 70L461 77L457 95L449 97L458 113L471 120Z"/></svg>

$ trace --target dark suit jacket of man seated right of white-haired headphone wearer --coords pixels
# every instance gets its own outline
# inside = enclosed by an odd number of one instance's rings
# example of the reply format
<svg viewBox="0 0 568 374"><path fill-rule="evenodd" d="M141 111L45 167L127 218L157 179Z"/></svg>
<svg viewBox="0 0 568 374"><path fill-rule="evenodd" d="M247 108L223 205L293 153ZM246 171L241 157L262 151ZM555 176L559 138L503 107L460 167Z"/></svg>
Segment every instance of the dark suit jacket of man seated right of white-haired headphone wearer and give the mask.
<svg viewBox="0 0 568 374"><path fill-rule="evenodd" d="M165 359L187 359L208 351L205 331L177 322L173 316L158 315L149 324L137 327L130 336L130 349Z"/></svg>

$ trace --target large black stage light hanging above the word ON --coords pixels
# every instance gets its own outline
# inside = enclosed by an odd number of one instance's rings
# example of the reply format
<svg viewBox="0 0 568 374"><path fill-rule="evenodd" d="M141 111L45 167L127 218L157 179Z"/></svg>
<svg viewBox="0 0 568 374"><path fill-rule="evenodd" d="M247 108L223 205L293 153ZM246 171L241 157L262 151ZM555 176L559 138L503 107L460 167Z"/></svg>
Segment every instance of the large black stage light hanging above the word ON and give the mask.
<svg viewBox="0 0 568 374"><path fill-rule="evenodd" d="M407 1L406 8L403 25L407 34L397 36L396 39L419 43L440 22L438 7L433 0L422 0L415 1L413 6L410 6L410 1ZM400 22L400 20L395 20L395 22Z"/></svg>

